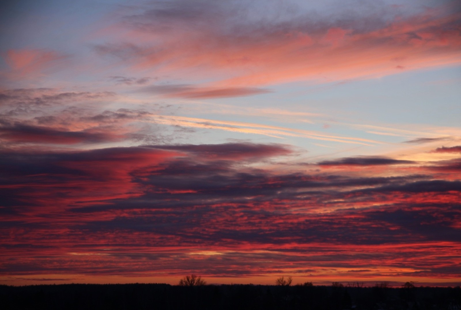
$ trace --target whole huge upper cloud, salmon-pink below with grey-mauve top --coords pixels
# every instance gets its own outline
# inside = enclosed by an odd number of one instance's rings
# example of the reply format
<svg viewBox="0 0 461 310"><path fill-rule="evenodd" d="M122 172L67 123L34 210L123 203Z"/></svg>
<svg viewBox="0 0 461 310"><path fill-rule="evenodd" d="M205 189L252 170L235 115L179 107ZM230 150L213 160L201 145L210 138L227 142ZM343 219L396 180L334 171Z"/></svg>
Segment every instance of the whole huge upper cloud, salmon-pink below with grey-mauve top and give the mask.
<svg viewBox="0 0 461 310"><path fill-rule="evenodd" d="M272 2L263 18L254 6L238 2L155 2L113 26L119 43L95 49L128 61L136 71L209 81L200 85L204 92L185 90L179 96L191 98L232 97L298 80L369 79L461 62L459 13L443 7L413 16L385 6L366 16L354 9L333 16L286 10Z"/></svg>

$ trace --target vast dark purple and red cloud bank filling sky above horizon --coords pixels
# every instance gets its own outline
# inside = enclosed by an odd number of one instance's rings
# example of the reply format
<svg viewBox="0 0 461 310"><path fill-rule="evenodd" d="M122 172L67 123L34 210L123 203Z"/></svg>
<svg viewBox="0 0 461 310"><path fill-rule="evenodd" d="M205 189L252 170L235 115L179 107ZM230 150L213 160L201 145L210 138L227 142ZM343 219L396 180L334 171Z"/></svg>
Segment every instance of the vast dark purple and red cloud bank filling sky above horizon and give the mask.
<svg viewBox="0 0 461 310"><path fill-rule="evenodd" d="M283 261L294 274L361 275L403 260L446 273L437 268L460 241L459 181L253 166L289 154L248 142L2 152L0 201L14 210L2 213L0 235L14 236L2 239L2 271L236 276L273 274Z"/></svg>

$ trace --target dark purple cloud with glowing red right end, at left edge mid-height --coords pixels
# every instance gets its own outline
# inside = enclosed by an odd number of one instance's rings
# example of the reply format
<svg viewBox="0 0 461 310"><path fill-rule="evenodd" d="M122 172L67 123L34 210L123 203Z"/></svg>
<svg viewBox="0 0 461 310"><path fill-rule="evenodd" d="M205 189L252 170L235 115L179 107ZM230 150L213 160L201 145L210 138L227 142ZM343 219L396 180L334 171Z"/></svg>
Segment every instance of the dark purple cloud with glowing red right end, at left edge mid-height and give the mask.
<svg viewBox="0 0 461 310"><path fill-rule="evenodd" d="M8 207L41 205L50 212L59 206L136 196L142 190L132 182L131 174L177 155L139 147L80 152L7 150L0 157L8 178L1 182L0 195Z"/></svg>

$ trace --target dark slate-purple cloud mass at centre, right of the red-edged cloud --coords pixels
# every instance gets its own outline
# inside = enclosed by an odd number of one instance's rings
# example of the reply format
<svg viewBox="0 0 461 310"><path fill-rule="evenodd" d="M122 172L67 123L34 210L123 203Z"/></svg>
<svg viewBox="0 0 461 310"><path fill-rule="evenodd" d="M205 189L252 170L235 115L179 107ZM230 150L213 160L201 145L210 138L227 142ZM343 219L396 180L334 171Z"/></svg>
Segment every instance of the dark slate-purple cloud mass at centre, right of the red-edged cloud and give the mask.
<svg viewBox="0 0 461 310"><path fill-rule="evenodd" d="M355 191L346 189L355 186L366 187L372 191L376 185L402 184L417 180L421 176L394 177L394 178L345 178L341 176L327 176L319 178L309 175L282 175L271 176L263 170L250 170L247 173L239 172L234 167L234 161L212 160L197 163L189 159L175 159L158 164L154 170L148 171L149 176L136 179L148 189L141 201L132 203L118 203L112 201L104 207L82 207L72 209L75 212L101 212L105 210L122 210L139 207L148 207L142 201L155 201L158 207L189 208L204 206L204 201L213 201L213 204L232 203L254 206L271 202L272 207L284 207L283 201L290 201L298 205L330 203L332 199L356 201L352 195ZM363 192L362 192L363 194ZM177 199L172 199L176 197ZM251 197L249 199L248 197ZM345 198L347 197L347 198ZM361 199L374 198L362 195ZM153 205L148 208L153 208ZM250 210L248 210L250 212ZM258 211L259 212L259 211Z"/></svg>

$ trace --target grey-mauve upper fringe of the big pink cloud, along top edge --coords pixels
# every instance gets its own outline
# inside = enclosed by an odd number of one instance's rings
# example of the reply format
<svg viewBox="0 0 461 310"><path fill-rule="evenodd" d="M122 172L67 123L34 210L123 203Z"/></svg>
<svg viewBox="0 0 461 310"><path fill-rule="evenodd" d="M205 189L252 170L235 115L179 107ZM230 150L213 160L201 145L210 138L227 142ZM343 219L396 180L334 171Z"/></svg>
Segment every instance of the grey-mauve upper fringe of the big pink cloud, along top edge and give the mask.
<svg viewBox="0 0 461 310"><path fill-rule="evenodd" d="M124 20L143 31L174 31L178 28L208 28L223 35L233 35L241 40L251 33L271 36L287 31L321 32L331 27L354 29L357 32L373 31L383 27L396 15L390 6L363 4L361 9L328 13L307 11L294 2L264 2L264 10L254 3L239 1L185 1L154 2L141 14L132 14ZM402 14L403 10L398 11ZM369 19L364 18L368 16ZM213 28L209 29L209 25ZM248 38L249 39L249 38ZM254 37L258 40L258 36Z"/></svg>

